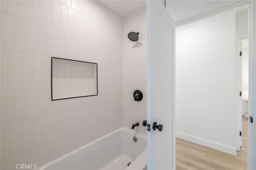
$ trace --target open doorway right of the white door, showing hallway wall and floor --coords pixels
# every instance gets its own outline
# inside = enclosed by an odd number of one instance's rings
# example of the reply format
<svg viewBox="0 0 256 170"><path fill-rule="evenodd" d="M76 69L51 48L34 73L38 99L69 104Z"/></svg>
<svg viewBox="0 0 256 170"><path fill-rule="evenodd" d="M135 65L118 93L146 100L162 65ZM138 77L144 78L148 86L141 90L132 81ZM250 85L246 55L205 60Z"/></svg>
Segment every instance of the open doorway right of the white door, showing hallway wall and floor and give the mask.
<svg viewBox="0 0 256 170"><path fill-rule="evenodd" d="M176 28L176 169L247 169L248 121L236 53L236 35L248 37L244 11Z"/></svg>

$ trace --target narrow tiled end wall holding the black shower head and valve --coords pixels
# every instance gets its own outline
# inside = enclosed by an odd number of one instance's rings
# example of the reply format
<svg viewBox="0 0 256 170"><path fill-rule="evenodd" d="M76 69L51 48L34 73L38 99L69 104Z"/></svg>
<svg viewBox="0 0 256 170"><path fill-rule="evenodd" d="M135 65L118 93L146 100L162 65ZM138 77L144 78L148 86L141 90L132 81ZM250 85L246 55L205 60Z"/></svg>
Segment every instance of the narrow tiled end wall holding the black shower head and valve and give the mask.
<svg viewBox="0 0 256 170"><path fill-rule="evenodd" d="M129 32L139 32L137 42L128 39ZM146 7L141 8L123 19L123 125L132 127L139 122L134 130L146 134L142 121L146 120ZM143 93L142 101L134 101L134 90Z"/></svg>

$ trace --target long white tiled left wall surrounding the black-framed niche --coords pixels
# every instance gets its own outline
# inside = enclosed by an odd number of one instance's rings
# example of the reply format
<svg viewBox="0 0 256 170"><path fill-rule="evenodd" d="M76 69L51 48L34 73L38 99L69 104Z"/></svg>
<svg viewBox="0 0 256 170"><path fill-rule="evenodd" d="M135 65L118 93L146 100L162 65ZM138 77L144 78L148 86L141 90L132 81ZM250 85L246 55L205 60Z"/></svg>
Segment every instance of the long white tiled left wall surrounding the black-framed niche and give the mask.
<svg viewBox="0 0 256 170"><path fill-rule="evenodd" d="M122 127L121 16L82 0L1 0L0 10L2 170ZM52 56L98 63L98 96L51 101Z"/></svg>

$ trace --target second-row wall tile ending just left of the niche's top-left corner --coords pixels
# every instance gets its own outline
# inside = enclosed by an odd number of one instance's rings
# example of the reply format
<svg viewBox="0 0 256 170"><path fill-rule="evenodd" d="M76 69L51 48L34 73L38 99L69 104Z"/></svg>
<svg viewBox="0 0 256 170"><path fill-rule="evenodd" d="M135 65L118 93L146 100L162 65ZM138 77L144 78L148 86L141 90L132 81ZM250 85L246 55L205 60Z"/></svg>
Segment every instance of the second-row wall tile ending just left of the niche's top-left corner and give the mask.
<svg viewBox="0 0 256 170"><path fill-rule="evenodd" d="M38 54L48 55L48 30L41 25L38 25Z"/></svg>

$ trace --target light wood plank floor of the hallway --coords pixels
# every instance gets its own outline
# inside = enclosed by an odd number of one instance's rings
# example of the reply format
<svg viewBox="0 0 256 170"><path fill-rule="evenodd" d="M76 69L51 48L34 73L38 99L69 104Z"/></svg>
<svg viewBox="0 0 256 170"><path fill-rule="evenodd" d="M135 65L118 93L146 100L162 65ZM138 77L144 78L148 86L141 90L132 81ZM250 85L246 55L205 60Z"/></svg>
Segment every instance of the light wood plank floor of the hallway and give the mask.
<svg viewBox="0 0 256 170"><path fill-rule="evenodd" d="M248 120L244 117L242 134L237 156L176 138L176 170L247 170Z"/></svg>

